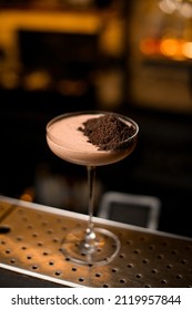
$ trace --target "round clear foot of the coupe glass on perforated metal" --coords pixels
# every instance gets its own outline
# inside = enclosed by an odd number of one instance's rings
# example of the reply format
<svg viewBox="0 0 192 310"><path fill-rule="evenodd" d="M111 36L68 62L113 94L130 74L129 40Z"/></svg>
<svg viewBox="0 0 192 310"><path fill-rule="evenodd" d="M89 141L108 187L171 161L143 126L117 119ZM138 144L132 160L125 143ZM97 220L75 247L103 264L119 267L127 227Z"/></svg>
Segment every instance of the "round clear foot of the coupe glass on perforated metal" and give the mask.
<svg viewBox="0 0 192 310"><path fill-rule="evenodd" d="M119 238L103 228L95 227L93 234L95 238L88 244L83 229L70 231L61 248L64 256L80 265L101 266L112 261L120 250Z"/></svg>

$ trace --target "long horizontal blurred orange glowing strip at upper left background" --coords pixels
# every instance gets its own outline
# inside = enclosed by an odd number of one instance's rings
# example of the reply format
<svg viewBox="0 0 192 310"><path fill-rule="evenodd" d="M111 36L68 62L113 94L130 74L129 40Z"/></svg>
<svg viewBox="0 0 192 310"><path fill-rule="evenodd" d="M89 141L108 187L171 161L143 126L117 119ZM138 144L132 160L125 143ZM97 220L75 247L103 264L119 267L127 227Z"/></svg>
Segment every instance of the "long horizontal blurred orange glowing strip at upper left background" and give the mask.
<svg viewBox="0 0 192 310"><path fill-rule="evenodd" d="M100 31L101 19L95 13L79 12L51 12L46 11L16 11L6 10L0 12L0 27L3 31L14 33L16 29L41 30L41 31L65 31L69 33L97 33ZM1 37L1 33L0 33Z"/></svg>

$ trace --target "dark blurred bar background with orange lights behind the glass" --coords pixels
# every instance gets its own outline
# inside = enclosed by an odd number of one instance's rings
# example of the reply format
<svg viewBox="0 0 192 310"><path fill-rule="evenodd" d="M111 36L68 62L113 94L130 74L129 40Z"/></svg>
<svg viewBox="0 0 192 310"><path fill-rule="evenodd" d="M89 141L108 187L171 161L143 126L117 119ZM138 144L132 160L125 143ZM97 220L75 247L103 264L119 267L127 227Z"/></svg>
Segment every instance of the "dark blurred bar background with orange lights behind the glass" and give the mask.
<svg viewBox="0 0 192 310"><path fill-rule="evenodd" d="M98 168L95 205L154 195L159 229L192 237L191 0L0 0L1 195L87 213L85 168L46 143L48 121L84 110L140 126L135 151Z"/></svg>

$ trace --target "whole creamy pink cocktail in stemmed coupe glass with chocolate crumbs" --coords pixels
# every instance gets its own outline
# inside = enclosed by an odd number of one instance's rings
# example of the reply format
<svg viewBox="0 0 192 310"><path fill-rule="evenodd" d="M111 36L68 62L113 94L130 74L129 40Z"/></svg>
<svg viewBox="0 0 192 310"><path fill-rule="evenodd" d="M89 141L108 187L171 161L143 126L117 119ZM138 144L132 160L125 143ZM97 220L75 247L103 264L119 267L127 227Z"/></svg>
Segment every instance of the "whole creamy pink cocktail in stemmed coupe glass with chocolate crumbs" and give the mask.
<svg viewBox="0 0 192 310"><path fill-rule="evenodd" d="M119 238L93 225L95 166L109 165L128 156L135 147L138 132L134 121L109 112L69 113L48 123L50 149L58 157L88 168L88 226L64 236L62 250L68 259L98 266L108 264L119 252Z"/></svg>

